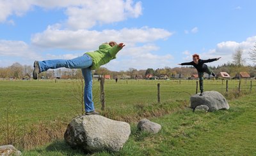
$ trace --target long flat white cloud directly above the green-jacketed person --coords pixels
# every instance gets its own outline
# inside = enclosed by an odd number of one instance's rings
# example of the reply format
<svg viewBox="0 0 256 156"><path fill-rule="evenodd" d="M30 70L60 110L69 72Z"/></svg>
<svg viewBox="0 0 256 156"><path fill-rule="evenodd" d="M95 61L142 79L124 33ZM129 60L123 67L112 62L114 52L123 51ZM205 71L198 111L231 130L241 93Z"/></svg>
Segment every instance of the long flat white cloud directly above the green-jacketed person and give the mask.
<svg viewBox="0 0 256 156"><path fill-rule="evenodd" d="M60 30L48 27L42 33L34 34L31 43L44 48L63 48L67 50L95 49L106 41L124 42L133 46L136 43L148 43L157 39L167 39L172 33L164 29L141 27L140 29L121 29L88 31Z"/></svg>

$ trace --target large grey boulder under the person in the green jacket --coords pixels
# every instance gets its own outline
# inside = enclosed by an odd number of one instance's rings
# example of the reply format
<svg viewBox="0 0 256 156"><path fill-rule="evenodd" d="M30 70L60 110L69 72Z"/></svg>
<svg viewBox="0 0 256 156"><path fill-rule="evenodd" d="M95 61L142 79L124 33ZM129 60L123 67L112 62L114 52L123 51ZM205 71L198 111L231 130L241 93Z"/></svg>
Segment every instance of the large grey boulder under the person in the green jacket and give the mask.
<svg viewBox="0 0 256 156"><path fill-rule="evenodd" d="M131 134L126 122L111 120L100 115L83 115L68 124L64 139L71 147L86 152L119 151Z"/></svg>

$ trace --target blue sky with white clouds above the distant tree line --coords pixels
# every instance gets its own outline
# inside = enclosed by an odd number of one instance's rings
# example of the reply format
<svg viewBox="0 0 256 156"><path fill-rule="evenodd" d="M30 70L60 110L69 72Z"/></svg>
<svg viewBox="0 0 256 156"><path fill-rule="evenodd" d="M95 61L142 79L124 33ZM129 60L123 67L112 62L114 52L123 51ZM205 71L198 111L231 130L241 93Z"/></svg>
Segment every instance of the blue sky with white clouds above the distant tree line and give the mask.
<svg viewBox="0 0 256 156"><path fill-rule="evenodd" d="M101 43L125 43L112 71L178 67L198 53L232 62L256 43L254 0L1 0L0 67L15 62L72 59Z"/></svg>

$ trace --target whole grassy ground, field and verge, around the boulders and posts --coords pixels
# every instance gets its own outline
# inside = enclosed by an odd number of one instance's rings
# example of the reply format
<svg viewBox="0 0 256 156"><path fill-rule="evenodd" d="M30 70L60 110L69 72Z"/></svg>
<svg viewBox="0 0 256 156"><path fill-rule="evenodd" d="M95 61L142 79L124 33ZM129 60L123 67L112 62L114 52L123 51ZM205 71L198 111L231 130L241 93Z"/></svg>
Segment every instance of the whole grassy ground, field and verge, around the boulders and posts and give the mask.
<svg viewBox="0 0 256 156"><path fill-rule="evenodd" d="M157 103L157 83L161 103ZM120 152L94 155L256 155L255 81L252 93L249 80L242 80L240 93L238 83L229 80L226 94L225 81L205 80L205 90L224 94L230 110L193 113L188 106L195 80L106 80L106 111L100 111L95 81L95 108L108 118L129 122L132 134ZM68 122L82 113L79 84L1 81L0 143L13 143L24 155L84 155L62 139ZM137 131L136 122L145 117L161 124L162 131L156 135Z"/></svg>

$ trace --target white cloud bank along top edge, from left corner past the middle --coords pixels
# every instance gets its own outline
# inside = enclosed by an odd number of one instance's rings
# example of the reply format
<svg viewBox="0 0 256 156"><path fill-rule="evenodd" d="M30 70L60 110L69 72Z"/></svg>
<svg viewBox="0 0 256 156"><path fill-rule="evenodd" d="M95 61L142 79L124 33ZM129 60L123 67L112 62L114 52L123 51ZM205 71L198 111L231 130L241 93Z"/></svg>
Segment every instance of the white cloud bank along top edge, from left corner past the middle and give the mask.
<svg viewBox="0 0 256 156"><path fill-rule="evenodd" d="M0 22L8 22L10 15L21 16L34 6L46 9L63 8L67 21L63 27L67 29L89 29L95 24L109 24L120 22L126 18L137 18L142 13L141 2L132 0L86 0L86 1L58 1L58 0L9 0L0 1Z"/></svg>

